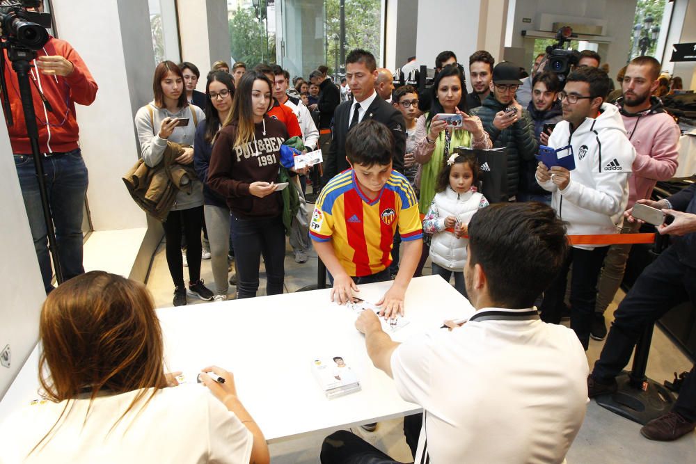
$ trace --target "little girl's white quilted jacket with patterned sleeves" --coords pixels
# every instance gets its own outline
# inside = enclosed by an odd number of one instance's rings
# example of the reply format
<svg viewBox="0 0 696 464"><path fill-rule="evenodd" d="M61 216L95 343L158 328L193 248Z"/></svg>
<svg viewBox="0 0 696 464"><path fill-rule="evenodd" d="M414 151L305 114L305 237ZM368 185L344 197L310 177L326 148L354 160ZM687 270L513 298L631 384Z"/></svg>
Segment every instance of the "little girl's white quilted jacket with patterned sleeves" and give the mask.
<svg viewBox="0 0 696 464"><path fill-rule="evenodd" d="M454 216L461 223L468 224L479 208L488 205L481 193L468 191L457 193L448 186L437 193L430 205L427 217L434 213L432 226L436 230L430 243L430 259L438 266L450 271L463 271L466 264L466 245L468 239L457 239L452 232L445 230L445 218ZM426 223L429 222L426 218ZM424 228L427 224L424 223Z"/></svg>

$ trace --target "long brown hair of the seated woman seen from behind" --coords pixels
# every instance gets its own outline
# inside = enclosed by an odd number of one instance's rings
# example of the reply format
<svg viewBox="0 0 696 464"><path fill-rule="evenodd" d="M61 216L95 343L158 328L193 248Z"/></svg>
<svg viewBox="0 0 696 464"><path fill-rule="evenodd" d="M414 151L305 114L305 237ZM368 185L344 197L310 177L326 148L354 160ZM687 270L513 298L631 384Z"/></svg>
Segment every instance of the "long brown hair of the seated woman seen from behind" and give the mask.
<svg viewBox="0 0 696 464"><path fill-rule="evenodd" d="M50 371L49 378L40 374L39 380L49 400L76 399L87 392L91 406L102 390L119 394L142 389L113 426L148 394L145 389L167 386L155 305L139 282L104 271L68 280L46 298L39 337L43 351L38 370ZM34 449L61 422L69 404Z"/></svg>

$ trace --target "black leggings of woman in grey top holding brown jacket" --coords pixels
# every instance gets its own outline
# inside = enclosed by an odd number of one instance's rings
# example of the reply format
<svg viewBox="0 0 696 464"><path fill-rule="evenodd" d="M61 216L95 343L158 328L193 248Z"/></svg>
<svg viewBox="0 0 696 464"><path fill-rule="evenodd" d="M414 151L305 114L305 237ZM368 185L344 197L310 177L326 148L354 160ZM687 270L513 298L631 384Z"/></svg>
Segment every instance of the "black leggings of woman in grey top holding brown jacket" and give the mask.
<svg viewBox="0 0 696 464"><path fill-rule="evenodd" d="M164 221L167 266L176 287L184 285L184 259L181 256L182 226L186 237L186 260L189 263L189 281L200 280L200 230L203 227L203 206L169 211Z"/></svg>

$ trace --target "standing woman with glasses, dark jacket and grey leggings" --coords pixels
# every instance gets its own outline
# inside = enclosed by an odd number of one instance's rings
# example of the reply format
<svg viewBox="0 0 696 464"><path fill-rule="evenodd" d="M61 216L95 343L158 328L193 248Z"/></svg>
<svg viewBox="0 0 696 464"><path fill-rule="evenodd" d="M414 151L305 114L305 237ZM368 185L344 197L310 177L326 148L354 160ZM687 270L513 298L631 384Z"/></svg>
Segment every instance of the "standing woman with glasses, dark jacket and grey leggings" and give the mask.
<svg viewBox="0 0 696 464"><path fill-rule="evenodd" d="M211 266L215 280L215 301L227 299L229 287L227 255L230 243L230 209L225 198L205 185L208 180L210 154L213 151L213 138L222 122L227 119L232 109L232 97L235 95L234 78L223 71L208 74L205 86L207 102L205 120L196 128L196 143L193 144L193 166L198 178L203 182L203 214L210 242Z"/></svg>

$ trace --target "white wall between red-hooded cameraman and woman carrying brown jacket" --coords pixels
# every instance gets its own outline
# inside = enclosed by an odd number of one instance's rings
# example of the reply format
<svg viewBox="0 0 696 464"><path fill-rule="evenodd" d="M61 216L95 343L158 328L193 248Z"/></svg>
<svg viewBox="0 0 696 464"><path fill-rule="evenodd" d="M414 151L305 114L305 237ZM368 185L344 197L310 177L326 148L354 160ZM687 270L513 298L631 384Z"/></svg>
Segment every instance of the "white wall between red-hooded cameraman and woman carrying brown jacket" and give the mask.
<svg viewBox="0 0 696 464"><path fill-rule="evenodd" d="M147 0L53 0L58 37L84 59L100 90L77 105L80 145L89 170L94 230L146 227L121 176L138 159L133 118L152 100L154 52Z"/></svg>

